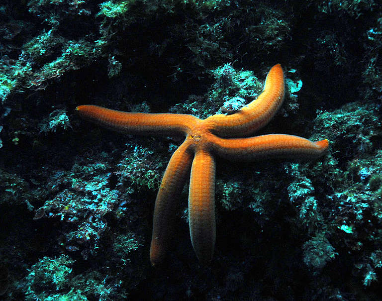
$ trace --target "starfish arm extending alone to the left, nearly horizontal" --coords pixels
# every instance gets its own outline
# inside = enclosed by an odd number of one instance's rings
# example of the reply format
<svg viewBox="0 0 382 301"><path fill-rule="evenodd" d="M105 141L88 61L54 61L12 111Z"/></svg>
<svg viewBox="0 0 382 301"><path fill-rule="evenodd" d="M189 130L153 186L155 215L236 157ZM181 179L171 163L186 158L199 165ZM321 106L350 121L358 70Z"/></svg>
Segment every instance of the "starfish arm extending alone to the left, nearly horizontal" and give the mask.
<svg viewBox="0 0 382 301"><path fill-rule="evenodd" d="M76 110L89 121L125 134L186 133L199 120L188 114L122 112L97 105L79 105Z"/></svg>

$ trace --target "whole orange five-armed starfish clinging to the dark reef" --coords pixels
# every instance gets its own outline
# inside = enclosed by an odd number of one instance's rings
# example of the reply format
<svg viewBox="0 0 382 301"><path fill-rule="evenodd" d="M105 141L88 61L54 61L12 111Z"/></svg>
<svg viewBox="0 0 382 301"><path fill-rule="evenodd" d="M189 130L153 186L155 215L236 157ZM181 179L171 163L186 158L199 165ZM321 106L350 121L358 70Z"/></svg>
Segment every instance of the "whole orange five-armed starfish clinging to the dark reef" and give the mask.
<svg viewBox="0 0 382 301"><path fill-rule="evenodd" d="M80 105L78 113L103 127L135 135L179 135L185 141L172 155L154 206L150 261L163 261L171 241L172 220L187 176L189 225L192 247L201 263L212 260L215 247L215 157L231 161L288 158L316 159L325 154L328 140L268 134L248 137L266 125L284 101L285 84L280 64L269 71L263 92L231 115L199 119L188 114L136 113L96 105ZM233 138L234 137L234 138ZM246 138L241 138L246 137Z"/></svg>

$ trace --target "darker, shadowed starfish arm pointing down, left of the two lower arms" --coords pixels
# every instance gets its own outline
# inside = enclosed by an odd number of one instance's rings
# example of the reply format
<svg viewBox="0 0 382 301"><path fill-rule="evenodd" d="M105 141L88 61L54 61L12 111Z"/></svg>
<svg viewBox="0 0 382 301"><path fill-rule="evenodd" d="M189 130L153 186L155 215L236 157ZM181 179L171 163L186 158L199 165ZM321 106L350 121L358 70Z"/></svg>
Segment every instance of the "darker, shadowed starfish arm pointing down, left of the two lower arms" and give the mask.
<svg viewBox="0 0 382 301"><path fill-rule="evenodd" d="M154 206L153 233L150 246L150 262L154 266L166 255L177 201L191 169L192 151L185 141L173 154L167 165Z"/></svg>

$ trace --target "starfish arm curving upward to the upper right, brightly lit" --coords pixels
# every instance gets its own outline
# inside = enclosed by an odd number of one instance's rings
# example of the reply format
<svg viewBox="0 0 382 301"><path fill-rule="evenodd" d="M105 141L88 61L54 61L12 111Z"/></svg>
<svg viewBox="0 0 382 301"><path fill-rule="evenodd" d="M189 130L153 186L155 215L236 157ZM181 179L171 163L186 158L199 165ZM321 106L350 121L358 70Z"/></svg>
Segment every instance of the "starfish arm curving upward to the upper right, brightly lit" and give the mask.
<svg viewBox="0 0 382 301"><path fill-rule="evenodd" d="M265 126L284 101L284 73L280 64L271 68L264 91L232 115L216 114L204 120L211 131L221 137L246 136Z"/></svg>

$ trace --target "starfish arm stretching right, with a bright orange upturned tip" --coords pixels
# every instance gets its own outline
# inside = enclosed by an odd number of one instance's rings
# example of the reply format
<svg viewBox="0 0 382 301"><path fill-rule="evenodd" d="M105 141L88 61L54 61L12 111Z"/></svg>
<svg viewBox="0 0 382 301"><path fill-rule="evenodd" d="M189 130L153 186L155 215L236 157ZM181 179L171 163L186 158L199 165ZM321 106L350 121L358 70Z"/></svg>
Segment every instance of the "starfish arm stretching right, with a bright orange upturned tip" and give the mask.
<svg viewBox="0 0 382 301"><path fill-rule="evenodd" d="M316 159L326 153L329 142L326 139L312 142L293 135L270 134L238 139L216 137L212 145L218 156L232 161L252 161L262 158Z"/></svg>

